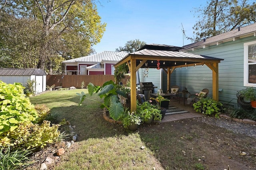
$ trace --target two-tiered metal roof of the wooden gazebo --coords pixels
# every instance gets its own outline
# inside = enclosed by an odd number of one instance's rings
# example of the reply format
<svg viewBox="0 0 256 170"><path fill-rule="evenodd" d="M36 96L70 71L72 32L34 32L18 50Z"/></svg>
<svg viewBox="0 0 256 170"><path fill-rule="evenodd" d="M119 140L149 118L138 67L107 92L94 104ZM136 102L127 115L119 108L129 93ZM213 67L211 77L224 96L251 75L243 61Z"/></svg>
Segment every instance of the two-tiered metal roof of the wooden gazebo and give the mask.
<svg viewBox="0 0 256 170"><path fill-rule="evenodd" d="M163 47L163 48L161 48ZM156 68L157 60L160 60L161 68L168 67L179 67L181 65L189 65L200 62L220 62L219 58L208 57L205 55L193 54L185 51L180 51L182 47L175 47L171 45L161 45L161 44L146 44L141 50L129 53L120 60L116 65L124 63L124 61L129 61L130 58L136 59L136 66L140 64L142 60L147 60L145 67Z"/></svg>

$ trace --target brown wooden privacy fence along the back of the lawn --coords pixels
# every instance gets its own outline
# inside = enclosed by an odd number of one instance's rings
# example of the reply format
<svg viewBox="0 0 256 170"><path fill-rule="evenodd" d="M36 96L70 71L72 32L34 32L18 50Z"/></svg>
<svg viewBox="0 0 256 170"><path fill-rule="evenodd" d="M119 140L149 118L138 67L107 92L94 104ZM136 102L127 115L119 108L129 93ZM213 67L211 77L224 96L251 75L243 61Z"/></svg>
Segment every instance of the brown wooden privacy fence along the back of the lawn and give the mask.
<svg viewBox="0 0 256 170"><path fill-rule="evenodd" d="M46 75L46 85L81 88L82 81L86 87L89 83L102 86L106 81L114 81L114 79L114 75ZM126 75L122 83L126 84L128 80L130 80L130 76Z"/></svg>

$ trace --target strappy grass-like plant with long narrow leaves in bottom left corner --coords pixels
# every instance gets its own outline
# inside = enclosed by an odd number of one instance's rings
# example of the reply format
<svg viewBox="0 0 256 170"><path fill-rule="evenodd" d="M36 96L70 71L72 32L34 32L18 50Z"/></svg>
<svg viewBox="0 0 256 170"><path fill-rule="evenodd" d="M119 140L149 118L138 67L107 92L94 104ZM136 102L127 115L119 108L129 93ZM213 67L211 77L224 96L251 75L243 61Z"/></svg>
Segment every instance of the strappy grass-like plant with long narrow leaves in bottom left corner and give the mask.
<svg viewBox="0 0 256 170"><path fill-rule="evenodd" d="M0 169L1 170L18 170L30 166L33 162L29 160L28 156L30 150L15 150L11 151L10 147L6 150L0 150Z"/></svg>

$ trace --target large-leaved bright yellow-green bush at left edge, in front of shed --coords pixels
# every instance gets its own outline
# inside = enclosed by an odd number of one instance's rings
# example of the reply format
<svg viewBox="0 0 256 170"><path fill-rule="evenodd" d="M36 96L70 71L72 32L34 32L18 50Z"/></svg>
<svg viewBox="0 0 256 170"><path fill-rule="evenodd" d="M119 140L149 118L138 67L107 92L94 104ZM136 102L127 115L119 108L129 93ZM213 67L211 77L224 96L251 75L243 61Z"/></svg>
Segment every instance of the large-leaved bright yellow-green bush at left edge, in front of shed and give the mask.
<svg viewBox="0 0 256 170"><path fill-rule="evenodd" d="M6 84L0 81L0 138L12 132L21 123L36 122L38 114L23 93L20 83Z"/></svg>

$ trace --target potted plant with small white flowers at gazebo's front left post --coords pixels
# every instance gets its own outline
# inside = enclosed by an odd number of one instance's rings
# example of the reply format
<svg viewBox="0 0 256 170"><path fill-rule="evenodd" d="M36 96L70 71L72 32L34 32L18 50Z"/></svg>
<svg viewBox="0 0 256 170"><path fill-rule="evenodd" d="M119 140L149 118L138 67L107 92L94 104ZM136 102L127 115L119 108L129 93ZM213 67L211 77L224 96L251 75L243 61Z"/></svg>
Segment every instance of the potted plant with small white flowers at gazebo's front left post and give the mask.
<svg viewBox="0 0 256 170"><path fill-rule="evenodd" d="M130 113L130 111L124 112L123 118L122 118L122 124L124 125L124 128L128 128L132 131L137 130L138 126L141 123L140 116L136 114L136 112Z"/></svg>

